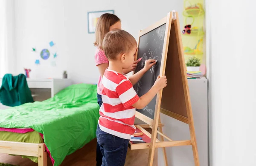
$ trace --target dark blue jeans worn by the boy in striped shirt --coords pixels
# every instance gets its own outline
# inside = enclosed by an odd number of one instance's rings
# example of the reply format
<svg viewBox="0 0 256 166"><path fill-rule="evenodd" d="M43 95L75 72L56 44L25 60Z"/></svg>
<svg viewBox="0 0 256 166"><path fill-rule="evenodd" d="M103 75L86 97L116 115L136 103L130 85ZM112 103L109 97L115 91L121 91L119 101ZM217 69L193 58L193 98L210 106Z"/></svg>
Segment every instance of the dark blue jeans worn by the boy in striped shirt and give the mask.
<svg viewBox="0 0 256 166"><path fill-rule="evenodd" d="M108 134L99 128L96 137L102 152L102 166L124 166L129 140Z"/></svg>

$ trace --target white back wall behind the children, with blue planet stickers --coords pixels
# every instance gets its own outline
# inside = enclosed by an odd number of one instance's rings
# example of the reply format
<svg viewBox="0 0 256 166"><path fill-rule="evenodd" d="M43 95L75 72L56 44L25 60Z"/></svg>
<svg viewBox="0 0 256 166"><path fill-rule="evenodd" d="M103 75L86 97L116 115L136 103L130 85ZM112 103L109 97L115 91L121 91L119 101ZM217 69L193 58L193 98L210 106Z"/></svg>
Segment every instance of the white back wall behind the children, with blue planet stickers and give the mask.
<svg viewBox="0 0 256 166"><path fill-rule="evenodd" d="M122 28L137 39L140 29L173 9L182 20L182 8L181 0L15 0L17 72L31 68L31 77L59 78L67 70L75 83L97 83L94 34L87 33L88 11L113 9L122 20ZM51 40L56 43L52 48ZM36 47L36 53L31 51L32 47ZM41 64L35 65L43 48L57 52L56 67L51 66L52 57L40 59Z"/></svg>

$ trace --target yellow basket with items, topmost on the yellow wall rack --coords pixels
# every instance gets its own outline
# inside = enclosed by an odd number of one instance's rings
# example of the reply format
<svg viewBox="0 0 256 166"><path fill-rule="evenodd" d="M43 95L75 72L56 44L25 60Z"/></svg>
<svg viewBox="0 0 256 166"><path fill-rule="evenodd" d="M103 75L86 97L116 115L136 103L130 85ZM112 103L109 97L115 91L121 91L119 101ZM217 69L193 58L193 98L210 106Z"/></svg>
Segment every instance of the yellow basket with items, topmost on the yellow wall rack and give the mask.
<svg viewBox="0 0 256 166"><path fill-rule="evenodd" d="M189 6L186 7L186 3L189 3ZM192 5L188 0L184 3L185 10L183 11L183 16L185 17L198 17L204 14L204 9L201 3L196 3Z"/></svg>

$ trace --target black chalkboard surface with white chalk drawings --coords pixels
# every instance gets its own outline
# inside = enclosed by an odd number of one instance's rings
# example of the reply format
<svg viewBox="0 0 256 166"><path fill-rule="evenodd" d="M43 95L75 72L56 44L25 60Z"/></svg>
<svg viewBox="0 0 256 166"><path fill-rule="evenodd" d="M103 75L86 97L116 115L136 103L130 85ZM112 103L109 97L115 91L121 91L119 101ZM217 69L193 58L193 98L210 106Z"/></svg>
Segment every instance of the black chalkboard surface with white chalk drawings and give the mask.
<svg viewBox="0 0 256 166"><path fill-rule="evenodd" d="M140 37L137 59L142 58L142 60L138 63L134 73L137 73L144 67L145 60L147 59L156 59L157 64L148 70L148 72L144 74L140 81L134 85L134 90L137 92L139 97L143 96L148 92L148 90L150 90L150 88L154 85L157 76L160 74L165 30L166 23ZM137 111L151 119L154 119L156 99L157 96L155 96L146 107Z"/></svg>

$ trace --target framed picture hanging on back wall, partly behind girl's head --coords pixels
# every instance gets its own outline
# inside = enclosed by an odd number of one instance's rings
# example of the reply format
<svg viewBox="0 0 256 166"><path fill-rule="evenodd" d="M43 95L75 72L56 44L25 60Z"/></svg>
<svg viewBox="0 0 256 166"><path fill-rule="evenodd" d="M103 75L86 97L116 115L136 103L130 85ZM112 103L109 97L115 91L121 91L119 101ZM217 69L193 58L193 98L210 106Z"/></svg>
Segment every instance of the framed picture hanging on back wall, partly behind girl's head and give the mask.
<svg viewBox="0 0 256 166"><path fill-rule="evenodd" d="M94 34L96 29L97 21L102 14L111 13L114 14L113 10L105 10L105 11L90 11L87 13L88 15L88 33Z"/></svg>

